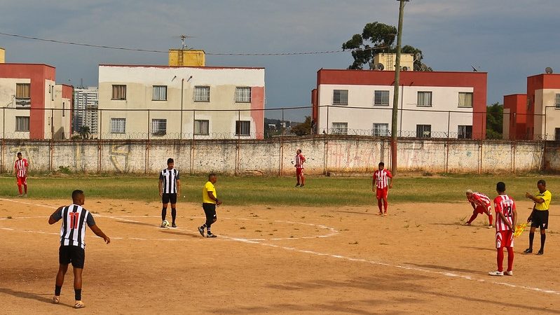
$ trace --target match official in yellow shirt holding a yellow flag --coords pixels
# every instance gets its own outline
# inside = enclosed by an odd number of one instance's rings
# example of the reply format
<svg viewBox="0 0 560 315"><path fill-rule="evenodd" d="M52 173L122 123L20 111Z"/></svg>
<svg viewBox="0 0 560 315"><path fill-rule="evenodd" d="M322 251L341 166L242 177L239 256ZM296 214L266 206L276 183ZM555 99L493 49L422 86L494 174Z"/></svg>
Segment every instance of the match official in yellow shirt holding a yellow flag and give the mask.
<svg viewBox="0 0 560 315"><path fill-rule="evenodd" d="M540 228L540 250L537 255L545 253L545 240L547 239L548 228L548 209L550 208L550 200L552 200L552 193L547 190L547 183L540 179L537 182L538 194L533 196L530 193L525 193L525 197L533 200L535 205L531 215L527 218L527 223L531 221L531 231L529 232L529 248L524 253L533 253L533 239L535 237L535 230Z"/></svg>

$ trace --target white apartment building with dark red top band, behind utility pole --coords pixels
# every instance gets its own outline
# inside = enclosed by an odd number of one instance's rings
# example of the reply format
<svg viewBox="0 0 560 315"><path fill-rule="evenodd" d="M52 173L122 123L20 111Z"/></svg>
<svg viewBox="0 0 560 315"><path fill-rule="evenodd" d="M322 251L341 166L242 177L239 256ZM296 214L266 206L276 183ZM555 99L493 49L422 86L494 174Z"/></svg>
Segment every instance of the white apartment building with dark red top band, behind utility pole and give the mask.
<svg viewBox="0 0 560 315"><path fill-rule="evenodd" d="M484 139L484 72L402 71L398 137ZM390 136L394 71L320 69L311 93L317 133Z"/></svg>

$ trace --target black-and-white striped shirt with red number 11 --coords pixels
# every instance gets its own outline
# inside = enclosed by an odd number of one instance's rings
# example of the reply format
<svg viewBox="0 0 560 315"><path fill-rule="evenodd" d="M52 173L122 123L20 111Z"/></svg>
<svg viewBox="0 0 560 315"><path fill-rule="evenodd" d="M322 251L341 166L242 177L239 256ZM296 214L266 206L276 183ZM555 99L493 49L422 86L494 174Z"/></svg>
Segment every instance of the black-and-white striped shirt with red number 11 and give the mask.
<svg viewBox="0 0 560 315"><path fill-rule="evenodd" d="M80 246L86 247L86 225L95 225L95 220L90 211L83 209L77 204L62 207L55 213L56 221L62 219L60 227L61 246Z"/></svg>

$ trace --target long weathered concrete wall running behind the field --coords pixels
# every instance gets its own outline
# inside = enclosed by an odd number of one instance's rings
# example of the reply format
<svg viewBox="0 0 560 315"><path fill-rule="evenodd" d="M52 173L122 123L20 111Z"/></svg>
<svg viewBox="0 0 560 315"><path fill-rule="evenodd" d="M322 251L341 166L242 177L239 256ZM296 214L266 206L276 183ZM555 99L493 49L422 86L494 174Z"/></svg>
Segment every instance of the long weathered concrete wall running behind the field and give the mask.
<svg viewBox="0 0 560 315"><path fill-rule="evenodd" d="M53 146L51 147L51 144ZM184 173L294 173L296 150L306 156L306 174L369 173L383 161L390 167L389 139L308 137L200 141L13 141L0 144L0 171L12 172L22 152L31 171L154 174L175 158ZM560 147L542 141L457 141L399 139L399 172L504 173L560 171Z"/></svg>

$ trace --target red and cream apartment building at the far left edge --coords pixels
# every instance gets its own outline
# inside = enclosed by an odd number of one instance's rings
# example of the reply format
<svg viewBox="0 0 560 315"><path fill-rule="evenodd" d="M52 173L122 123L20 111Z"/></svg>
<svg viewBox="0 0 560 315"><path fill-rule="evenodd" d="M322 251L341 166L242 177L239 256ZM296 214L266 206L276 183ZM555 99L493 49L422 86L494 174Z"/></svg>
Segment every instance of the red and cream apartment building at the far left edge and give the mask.
<svg viewBox="0 0 560 315"><path fill-rule="evenodd" d="M0 64L3 138L68 139L72 87L55 83L46 64Z"/></svg>

